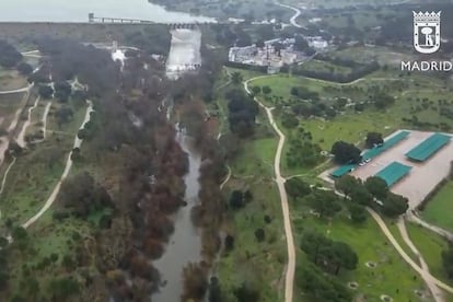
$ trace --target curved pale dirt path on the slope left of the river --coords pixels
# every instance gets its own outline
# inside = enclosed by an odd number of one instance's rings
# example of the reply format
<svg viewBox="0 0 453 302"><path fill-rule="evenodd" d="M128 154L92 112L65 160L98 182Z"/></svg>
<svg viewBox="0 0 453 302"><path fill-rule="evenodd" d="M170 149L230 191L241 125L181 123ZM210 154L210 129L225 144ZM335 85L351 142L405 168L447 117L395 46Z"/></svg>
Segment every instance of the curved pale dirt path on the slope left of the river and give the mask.
<svg viewBox="0 0 453 302"><path fill-rule="evenodd" d="M83 123L82 123L80 129L82 129L85 126L85 124L90 121L90 115L93 112L93 103L91 101L86 101L86 102L88 102L89 106L86 108L85 118L83 119ZM73 149L74 148L80 148L82 146L82 142L83 142L83 140L79 139L78 133L76 133ZM50 194L49 198L46 200L46 204L34 217L32 217L24 224L22 224L22 226L24 229L27 229L30 225L35 223L51 207L51 205L56 200L56 198L58 196L58 193L60 191L62 182L68 177L69 172L71 171L71 167L72 167L71 155L72 155L72 150L71 150L71 152L69 152L68 160L67 160L66 166L65 166L65 171L63 171L60 179L58 181L58 184L55 186L53 193Z"/></svg>

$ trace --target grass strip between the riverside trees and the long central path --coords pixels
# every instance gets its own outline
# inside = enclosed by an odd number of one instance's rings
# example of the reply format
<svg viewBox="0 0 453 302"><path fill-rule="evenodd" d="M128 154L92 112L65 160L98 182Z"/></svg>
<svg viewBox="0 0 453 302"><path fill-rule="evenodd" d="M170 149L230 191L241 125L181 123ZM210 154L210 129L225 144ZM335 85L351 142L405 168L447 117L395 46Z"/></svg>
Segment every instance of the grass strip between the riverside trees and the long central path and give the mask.
<svg viewBox="0 0 453 302"><path fill-rule="evenodd" d="M234 236L234 249L220 257L216 271L229 299L234 299L232 291L247 281L259 290L259 301L282 301L287 249L280 197L269 173L255 175L233 177L224 189L226 198L233 189L249 189L254 198L245 208L228 214L224 231ZM270 223L265 222L266 214ZM255 239L258 228L265 230L266 240L262 243Z"/></svg>

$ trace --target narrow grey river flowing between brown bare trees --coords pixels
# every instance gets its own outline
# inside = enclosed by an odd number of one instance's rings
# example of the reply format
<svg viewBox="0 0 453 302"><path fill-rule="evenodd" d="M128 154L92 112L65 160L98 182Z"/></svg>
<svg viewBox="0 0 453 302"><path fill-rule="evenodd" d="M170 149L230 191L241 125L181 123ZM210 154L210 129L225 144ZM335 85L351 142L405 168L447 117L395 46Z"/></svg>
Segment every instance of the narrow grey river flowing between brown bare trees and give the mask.
<svg viewBox="0 0 453 302"><path fill-rule="evenodd" d="M177 127L176 127L177 128ZM198 191L200 185L201 158L195 150L191 139L178 131L177 142L189 160L188 173L184 176L186 193L184 200L186 207L181 208L174 216L175 231L170 237L164 255L153 263L154 267L161 272L163 287L160 292L152 295L153 302L178 302L184 290L183 268L188 263L199 263L201 260L201 234L191 223L190 212L198 204Z"/></svg>

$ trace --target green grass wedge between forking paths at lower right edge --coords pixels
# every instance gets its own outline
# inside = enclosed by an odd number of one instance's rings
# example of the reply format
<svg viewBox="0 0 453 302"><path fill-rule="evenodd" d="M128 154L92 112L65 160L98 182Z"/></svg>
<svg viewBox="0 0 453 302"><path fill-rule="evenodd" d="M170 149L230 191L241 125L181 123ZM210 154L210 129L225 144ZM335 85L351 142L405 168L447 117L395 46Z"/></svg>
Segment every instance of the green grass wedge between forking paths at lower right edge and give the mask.
<svg viewBox="0 0 453 302"><path fill-rule="evenodd" d="M438 234L414 223L407 223L407 232L427 262L432 276L449 284L453 284L453 281L446 278L442 268L441 253L448 248L448 242Z"/></svg>

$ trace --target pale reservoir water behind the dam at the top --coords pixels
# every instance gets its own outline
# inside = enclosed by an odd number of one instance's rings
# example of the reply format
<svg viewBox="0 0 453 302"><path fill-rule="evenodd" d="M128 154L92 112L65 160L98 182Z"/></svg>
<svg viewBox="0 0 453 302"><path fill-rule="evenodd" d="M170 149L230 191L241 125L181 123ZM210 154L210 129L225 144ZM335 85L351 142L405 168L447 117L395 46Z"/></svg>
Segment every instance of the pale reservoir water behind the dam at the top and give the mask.
<svg viewBox="0 0 453 302"><path fill-rule="evenodd" d="M214 21L170 12L148 0L1 0L0 22L88 22L89 13L161 23Z"/></svg>

